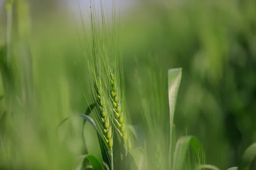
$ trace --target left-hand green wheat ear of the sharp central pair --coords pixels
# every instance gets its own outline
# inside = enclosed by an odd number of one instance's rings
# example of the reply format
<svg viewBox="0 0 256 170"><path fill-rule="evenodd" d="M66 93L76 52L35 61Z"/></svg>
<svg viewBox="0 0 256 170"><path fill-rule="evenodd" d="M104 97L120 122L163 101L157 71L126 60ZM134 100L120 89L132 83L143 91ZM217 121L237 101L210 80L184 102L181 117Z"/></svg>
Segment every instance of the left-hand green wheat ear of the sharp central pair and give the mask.
<svg viewBox="0 0 256 170"><path fill-rule="evenodd" d="M96 92L96 109L98 111L99 121L101 122L101 128L103 131L103 136L107 142L110 153L112 153L113 147L113 136L112 136L112 125L110 120L110 115L107 112L107 107L105 104L105 97L103 94L102 82L101 79L95 79L95 92Z"/></svg>

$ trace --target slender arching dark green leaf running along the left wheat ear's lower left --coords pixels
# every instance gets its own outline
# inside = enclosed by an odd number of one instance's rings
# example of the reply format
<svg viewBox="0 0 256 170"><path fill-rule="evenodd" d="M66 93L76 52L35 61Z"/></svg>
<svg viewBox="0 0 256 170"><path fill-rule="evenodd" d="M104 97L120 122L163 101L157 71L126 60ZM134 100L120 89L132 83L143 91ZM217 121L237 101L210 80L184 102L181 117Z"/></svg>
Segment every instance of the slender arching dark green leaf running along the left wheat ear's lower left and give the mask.
<svg viewBox="0 0 256 170"><path fill-rule="evenodd" d="M100 132L98 131L94 120L92 118L90 118L90 116L87 116L87 115L79 114L78 116L80 116L81 118L86 119L94 127L94 129L97 131L97 136L98 136L98 140L99 140L99 146L100 146L100 150L101 150L101 153L102 153L103 162L108 164L108 167L111 167L111 160L110 160L110 155L109 155L109 152L108 152L108 147L106 146L104 140L102 139L102 136L100 135Z"/></svg>

